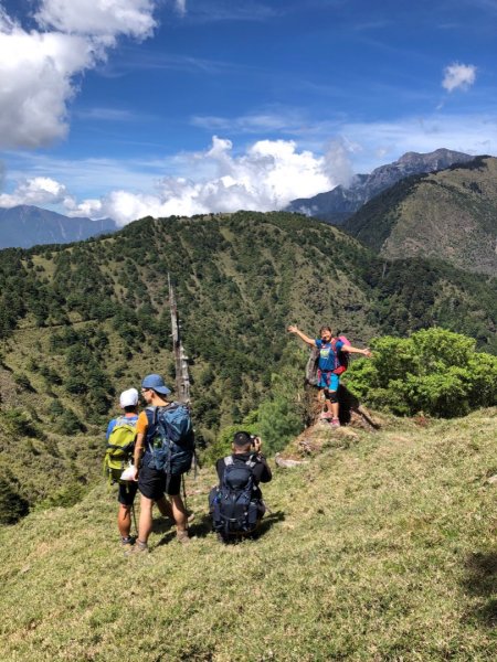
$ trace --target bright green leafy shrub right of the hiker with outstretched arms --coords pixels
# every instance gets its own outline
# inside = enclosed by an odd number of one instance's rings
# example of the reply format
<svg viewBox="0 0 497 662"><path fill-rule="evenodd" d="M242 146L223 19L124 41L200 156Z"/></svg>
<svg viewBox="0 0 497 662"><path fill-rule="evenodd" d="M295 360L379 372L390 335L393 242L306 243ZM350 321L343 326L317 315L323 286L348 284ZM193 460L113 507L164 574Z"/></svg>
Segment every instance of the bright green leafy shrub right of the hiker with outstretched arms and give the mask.
<svg viewBox="0 0 497 662"><path fill-rule="evenodd" d="M371 342L370 361L355 362L347 387L371 406L401 416L463 416L497 402L497 357L475 352L476 341L425 329L411 338Z"/></svg>

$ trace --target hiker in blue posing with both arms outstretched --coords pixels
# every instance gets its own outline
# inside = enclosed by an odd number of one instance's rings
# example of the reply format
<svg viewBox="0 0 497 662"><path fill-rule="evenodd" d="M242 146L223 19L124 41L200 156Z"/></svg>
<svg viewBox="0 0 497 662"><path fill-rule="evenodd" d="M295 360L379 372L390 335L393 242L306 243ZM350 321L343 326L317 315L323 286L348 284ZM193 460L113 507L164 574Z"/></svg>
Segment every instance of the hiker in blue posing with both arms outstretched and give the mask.
<svg viewBox="0 0 497 662"><path fill-rule="evenodd" d="M317 338L316 340L309 338L294 325L288 327L288 331L298 335L309 346L319 350L317 387L325 395L325 409L321 413L321 418L330 420L332 427L340 427L337 392L340 385L340 374L345 367L340 365L339 354L347 352L370 357L371 351L368 348L359 350L345 344L339 338L334 338L330 327L321 327L319 329L320 339Z"/></svg>

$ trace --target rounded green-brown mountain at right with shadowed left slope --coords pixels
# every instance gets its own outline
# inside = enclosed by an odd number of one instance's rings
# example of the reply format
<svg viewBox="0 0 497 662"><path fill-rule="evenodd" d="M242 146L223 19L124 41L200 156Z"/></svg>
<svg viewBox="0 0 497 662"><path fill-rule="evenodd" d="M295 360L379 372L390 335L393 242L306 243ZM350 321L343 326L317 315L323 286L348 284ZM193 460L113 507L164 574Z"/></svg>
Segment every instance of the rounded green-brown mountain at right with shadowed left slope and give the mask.
<svg viewBox="0 0 497 662"><path fill-rule="evenodd" d="M364 204L343 228L384 257L436 257L495 276L497 159L477 157L403 180Z"/></svg>

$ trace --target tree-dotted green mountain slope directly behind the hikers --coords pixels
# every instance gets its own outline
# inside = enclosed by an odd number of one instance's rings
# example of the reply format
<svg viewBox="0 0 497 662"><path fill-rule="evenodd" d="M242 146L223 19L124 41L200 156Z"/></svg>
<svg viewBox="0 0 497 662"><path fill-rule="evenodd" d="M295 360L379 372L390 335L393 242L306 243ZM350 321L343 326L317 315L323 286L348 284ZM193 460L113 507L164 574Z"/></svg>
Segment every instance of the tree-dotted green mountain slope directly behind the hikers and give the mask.
<svg viewBox="0 0 497 662"><path fill-rule="evenodd" d="M80 244L3 250L4 499L71 500L99 470L116 394L152 371L172 384L168 273L207 441L271 393L296 351L292 322L308 333L331 323L359 345L437 324L497 351L495 281L419 258L390 263L294 214L144 218Z"/></svg>

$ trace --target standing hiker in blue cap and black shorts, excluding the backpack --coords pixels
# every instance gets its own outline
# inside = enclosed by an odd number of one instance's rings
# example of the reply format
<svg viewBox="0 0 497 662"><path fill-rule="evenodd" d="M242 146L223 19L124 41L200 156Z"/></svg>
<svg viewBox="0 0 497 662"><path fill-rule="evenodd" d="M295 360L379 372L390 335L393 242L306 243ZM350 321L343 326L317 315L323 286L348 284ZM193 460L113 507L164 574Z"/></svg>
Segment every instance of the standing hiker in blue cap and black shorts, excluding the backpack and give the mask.
<svg viewBox="0 0 497 662"><path fill-rule="evenodd" d="M187 511L180 495L181 474L190 469L193 450L187 458L179 472L169 474L165 467L157 468L155 462L155 445L159 434L158 416L172 403L167 399L170 389L162 377L157 374L147 375L141 382L141 395L147 403L147 408L140 413L137 421L137 438L135 444L135 478L140 491L140 519L138 523L138 538L134 552L148 552L148 536L152 528L154 503L163 508L167 504L177 526L177 540L188 543ZM175 468L173 468L175 470ZM165 498L167 492L170 503Z"/></svg>

